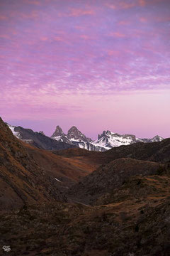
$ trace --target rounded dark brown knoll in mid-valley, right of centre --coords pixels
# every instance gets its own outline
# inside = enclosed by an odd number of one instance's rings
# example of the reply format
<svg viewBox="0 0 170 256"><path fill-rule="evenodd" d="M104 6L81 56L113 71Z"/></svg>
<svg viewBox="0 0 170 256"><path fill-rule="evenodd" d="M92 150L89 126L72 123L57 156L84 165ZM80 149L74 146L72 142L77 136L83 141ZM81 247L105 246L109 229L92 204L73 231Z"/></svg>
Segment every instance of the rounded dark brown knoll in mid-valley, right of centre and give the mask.
<svg viewBox="0 0 170 256"><path fill-rule="evenodd" d="M93 203L113 188L120 187L130 176L156 174L162 164L135 159L116 159L79 181L68 191L68 196L84 203Z"/></svg>

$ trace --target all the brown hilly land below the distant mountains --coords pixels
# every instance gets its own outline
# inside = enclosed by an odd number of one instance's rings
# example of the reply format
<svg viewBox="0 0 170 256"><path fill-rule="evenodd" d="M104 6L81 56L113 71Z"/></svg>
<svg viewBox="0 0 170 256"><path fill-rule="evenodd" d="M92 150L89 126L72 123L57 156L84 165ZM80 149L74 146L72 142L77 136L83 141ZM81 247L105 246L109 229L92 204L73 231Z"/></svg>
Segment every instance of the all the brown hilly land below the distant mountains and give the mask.
<svg viewBox="0 0 170 256"><path fill-rule="evenodd" d="M0 255L170 255L169 149L45 151L0 119Z"/></svg>

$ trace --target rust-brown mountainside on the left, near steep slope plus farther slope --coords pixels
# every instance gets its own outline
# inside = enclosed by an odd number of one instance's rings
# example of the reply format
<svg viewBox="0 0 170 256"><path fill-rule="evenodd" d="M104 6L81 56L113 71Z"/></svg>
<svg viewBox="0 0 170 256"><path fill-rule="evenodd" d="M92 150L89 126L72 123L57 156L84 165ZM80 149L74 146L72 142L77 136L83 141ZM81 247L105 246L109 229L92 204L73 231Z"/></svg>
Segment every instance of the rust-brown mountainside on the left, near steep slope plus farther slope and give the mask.
<svg viewBox="0 0 170 256"><path fill-rule="evenodd" d="M13 136L0 120L1 209L42 201L67 201L61 191L94 171L100 164L57 156Z"/></svg>

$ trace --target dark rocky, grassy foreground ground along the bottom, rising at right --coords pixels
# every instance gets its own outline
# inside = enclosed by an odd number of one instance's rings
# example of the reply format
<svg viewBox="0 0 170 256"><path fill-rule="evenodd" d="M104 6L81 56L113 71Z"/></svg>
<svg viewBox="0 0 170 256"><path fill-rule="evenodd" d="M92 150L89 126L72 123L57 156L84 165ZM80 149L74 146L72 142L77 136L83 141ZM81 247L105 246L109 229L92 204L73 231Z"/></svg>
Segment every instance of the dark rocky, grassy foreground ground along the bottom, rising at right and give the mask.
<svg viewBox="0 0 170 256"><path fill-rule="evenodd" d="M10 255L170 255L170 178L137 176L101 206L55 203L0 215Z"/></svg>

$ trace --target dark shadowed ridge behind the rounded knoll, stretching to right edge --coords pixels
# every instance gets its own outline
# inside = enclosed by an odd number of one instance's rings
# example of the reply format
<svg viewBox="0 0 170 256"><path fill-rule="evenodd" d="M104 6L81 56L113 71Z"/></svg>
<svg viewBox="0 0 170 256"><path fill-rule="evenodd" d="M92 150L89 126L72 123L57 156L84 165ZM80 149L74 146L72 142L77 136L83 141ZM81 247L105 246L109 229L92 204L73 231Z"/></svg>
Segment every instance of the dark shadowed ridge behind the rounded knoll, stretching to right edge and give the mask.
<svg viewBox="0 0 170 256"><path fill-rule="evenodd" d="M170 139L164 139L162 142L152 143L138 142L127 146L118 146L104 152L87 151L86 149L76 148L52 151L52 153L60 156L89 159L89 161L94 161L98 164L108 164L110 161L120 158L132 158L164 164L170 161L169 152Z"/></svg>

